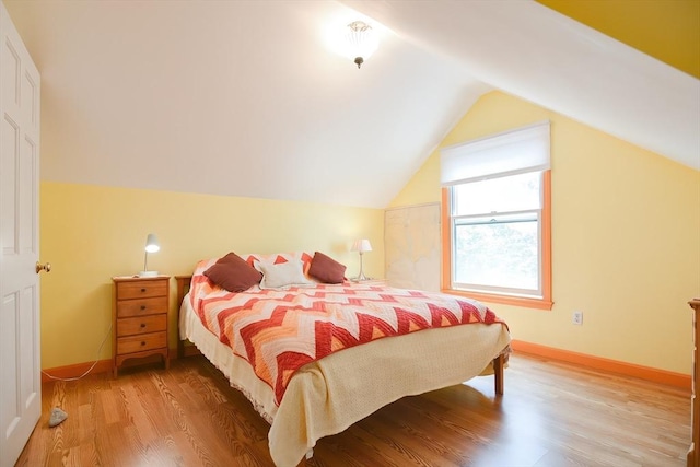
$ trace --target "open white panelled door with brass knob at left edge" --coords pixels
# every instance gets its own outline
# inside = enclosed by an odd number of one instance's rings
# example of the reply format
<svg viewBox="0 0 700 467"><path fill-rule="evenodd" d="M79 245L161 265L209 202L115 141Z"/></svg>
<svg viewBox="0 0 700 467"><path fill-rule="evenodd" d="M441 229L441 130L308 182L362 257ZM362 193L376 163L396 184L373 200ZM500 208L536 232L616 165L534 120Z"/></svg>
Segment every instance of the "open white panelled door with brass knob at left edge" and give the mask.
<svg viewBox="0 0 700 467"><path fill-rule="evenodd" d="M38 259L39 73L0 2L0 467L42 412Z"/></svg>

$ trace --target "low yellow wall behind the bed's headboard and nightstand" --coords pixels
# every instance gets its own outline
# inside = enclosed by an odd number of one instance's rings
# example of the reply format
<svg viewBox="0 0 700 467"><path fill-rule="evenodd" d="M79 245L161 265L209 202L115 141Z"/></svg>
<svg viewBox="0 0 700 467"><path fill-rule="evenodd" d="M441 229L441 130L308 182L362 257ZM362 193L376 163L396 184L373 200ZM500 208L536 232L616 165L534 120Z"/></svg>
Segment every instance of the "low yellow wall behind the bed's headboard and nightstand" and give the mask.
<svg viewBox="0 0 700 467"><path fill-rule="evenodd" d="M52 270L42 275L42 367L109 359L113 276L143 268L148 233L161 250L149 269L187 275L196 261L238 254L320 250L358 273L352 241L366 237L368 275L384 270L384 211L378 209L232 198L170 191L43 182L40 258ZM174 281L171 283L175 288ZM176 346L176 305L171 304L170 346Z"/></svg>

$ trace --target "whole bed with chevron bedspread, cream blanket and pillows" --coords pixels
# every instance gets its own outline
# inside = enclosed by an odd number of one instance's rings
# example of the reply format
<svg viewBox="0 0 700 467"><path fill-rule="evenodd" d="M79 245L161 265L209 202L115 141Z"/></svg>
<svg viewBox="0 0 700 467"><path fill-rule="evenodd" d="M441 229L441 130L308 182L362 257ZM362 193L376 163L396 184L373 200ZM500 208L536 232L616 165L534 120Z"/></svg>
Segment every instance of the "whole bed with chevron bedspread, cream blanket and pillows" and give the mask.
<svg viewBox="0 0 700 467"><path fill-rule="evenodd" d="M259 276L245 270L248 281L222 287L212 271L232 258ZM318 258L331 261L336 283L312 273ZM319 439L404 396L480 374L494 374L503 394L510 334L488 307L348 281L340 266L318 252L230 253L177 277L180 343L191 341L270 423L277 466L298 465Z"/></svg>

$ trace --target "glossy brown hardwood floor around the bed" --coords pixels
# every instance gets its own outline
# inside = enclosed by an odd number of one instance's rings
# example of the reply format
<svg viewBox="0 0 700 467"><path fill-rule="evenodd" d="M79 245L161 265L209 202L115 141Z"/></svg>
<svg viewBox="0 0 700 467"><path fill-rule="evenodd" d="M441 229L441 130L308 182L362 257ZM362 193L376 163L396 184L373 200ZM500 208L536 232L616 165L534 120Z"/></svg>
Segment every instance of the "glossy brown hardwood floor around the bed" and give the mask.
<svg viewBox="0 0 700 467"><path fill-rule="evenodd" d="M201 357L44 385L19 466L271 466L269 425ZM361 395L359 395L361 397ZM68 412L48 428L52 407ZM325 466L685 466L689 394L513 354L493 378L406 397L318 442Z"/></svg>

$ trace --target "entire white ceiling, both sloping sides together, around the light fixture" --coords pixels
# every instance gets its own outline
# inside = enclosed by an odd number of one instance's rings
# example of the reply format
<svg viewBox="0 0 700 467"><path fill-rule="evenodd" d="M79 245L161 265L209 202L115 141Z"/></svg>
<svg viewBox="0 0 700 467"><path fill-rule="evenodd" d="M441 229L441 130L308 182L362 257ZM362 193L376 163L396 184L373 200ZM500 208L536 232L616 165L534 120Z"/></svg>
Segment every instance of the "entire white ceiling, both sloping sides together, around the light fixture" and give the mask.
<svg viewBox="0 0 700 467"><path fill-rule="evenodd" d="M4 3L45 180L383 208L491 89L700 168L698 80L534 2ZM358 12L361 70L325 42Z"/></svg>

